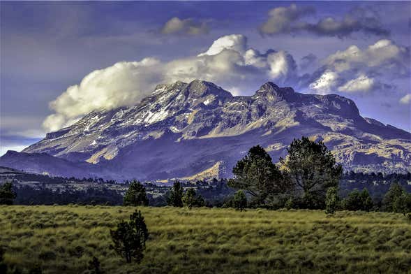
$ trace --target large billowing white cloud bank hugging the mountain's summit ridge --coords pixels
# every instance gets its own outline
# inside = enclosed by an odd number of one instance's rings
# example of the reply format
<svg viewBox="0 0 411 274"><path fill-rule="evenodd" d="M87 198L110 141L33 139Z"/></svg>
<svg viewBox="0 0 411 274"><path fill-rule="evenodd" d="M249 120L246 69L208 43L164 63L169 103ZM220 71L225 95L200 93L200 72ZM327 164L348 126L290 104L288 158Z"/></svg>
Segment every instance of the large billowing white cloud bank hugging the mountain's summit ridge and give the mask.
<svg viewBox="0 0 411 274"><path fill-rule="evenodd" d="M170 62L147 57L93 71L50 103L54 113L45 119L43 127L56 131L92 110L133 106L161 82L203 79L244 92L267 80L292 85L297 78L292 55L272 49L261 53L248 47L246 36L233 34L218 38L197 56Z"/></svg>

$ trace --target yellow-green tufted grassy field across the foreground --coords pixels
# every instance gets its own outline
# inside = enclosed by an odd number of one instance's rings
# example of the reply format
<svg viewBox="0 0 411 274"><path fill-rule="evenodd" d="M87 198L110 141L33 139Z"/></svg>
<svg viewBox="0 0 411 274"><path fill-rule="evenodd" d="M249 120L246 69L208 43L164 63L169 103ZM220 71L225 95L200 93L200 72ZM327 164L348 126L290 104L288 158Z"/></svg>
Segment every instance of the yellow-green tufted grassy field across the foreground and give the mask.
<svg viewBox="0 0 411 274"><path fill-rule="evenodd" d="M140 208L142 264L110 250L110 228L135 208L0 206L5 261L43 273L411 273L411 224L399 214Z"/></svg>

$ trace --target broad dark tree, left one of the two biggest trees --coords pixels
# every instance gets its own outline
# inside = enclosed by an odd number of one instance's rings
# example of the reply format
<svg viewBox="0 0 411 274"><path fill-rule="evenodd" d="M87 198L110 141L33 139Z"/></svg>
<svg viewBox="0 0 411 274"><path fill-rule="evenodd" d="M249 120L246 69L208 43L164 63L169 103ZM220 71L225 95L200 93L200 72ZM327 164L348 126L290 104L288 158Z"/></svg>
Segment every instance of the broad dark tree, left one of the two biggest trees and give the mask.
<svg viewBox="0 0 411 274"><path fill-rule="evenodd" d="M272 196L285 192L289 185L281 171L271 161L271 157L256 145L248 150L243 159L232 168L234 178L228 185L234 189L244 189L254 197L255 203L264 204Z"/></svg>

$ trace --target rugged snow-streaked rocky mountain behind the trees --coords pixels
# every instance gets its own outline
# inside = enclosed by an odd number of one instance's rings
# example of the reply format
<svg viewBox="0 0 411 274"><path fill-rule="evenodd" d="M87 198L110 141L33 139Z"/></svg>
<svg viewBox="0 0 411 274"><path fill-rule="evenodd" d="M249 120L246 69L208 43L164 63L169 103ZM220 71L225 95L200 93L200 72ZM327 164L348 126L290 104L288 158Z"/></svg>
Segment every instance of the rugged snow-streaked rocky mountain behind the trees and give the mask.
<svg viewBox="0 0 411 274"><path fill-rule="evenodd" d="M117 180L195 178L207 170L226 177L253 145L276 161L301 136L323 140L348 170L411 171L411 134L361 117L350 99L272 82L253 96L232 96L202 80L158 85L136 106L93 111L22 153L5 154L0 165L56 175L74 166ZM13 161L20 154L33 159ZM52 158L35 159L44 154Z"/></svg>

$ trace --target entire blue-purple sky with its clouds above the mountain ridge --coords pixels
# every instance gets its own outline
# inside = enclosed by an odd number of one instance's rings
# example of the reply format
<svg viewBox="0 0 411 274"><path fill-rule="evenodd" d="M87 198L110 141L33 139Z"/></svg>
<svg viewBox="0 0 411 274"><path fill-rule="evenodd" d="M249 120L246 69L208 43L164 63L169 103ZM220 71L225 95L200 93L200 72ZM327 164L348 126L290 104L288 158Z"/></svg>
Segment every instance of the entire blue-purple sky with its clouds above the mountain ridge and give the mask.
<svg viewBox="0 0 411 274"><path fill-rule="evenodd" d="M234 94L268 80L337 93L361 115L411 130L411 2L0 6L0 154L94 108L137 103L157 83L192 78Z"/></svg>

